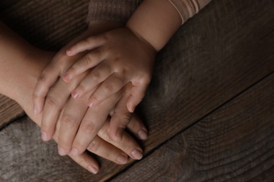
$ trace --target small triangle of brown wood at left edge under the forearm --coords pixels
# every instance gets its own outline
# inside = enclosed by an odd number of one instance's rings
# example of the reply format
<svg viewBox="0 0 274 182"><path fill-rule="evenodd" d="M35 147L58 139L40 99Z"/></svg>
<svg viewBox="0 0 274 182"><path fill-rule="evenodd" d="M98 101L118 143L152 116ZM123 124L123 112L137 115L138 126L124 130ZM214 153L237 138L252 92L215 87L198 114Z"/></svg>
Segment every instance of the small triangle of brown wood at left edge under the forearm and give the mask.
<svg viewBox="0 0 274 182"><path fill-rule="evenodd" d="M0 94L0 128L8 121L22 116L22 108L13 100Z"/></svg>

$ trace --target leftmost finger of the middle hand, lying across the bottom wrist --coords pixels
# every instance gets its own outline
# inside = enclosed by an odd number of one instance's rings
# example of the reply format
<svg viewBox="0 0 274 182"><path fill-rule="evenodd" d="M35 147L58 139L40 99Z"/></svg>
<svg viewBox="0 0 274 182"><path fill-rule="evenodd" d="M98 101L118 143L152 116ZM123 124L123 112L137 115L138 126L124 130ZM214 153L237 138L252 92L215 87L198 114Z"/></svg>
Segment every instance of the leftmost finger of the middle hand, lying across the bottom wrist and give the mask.
<svg viewBox="0 0 274 182"><path fill-rule="evenodd" d="M56 69L53 63L48 64L42 71L32 95L34 114L41 113L43 110L48 90L56 82L59 74L60 70Z"/></svg>

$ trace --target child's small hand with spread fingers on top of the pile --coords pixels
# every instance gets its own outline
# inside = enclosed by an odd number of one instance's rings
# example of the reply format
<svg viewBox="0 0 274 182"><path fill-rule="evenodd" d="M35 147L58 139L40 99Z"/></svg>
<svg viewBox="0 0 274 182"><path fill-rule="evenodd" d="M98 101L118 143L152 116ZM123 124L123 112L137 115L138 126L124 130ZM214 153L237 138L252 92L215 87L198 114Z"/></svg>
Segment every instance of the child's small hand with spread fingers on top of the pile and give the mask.
<svg viewBox="0 0 274 182"><path fill-rule="evenodd" d="M126 107L133 112L150 83L156 50L127 28L107 31L79 41L67 50L67 55L77 55L84 50L91 52L63 75L63 80L70 82L84 71L92 69L72 91L72 97L79 99L100 84L89 98L89 106L97 106L131 82Z"/></svg>

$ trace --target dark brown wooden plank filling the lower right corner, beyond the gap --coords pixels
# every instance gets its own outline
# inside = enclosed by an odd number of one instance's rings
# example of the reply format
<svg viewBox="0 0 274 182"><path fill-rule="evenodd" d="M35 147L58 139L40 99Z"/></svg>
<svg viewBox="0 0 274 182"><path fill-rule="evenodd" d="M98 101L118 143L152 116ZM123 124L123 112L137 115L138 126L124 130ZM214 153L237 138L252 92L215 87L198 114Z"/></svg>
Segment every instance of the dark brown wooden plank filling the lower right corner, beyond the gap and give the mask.
<svg viewBox="0 0 274 182"><path fill-rule="evenodd" d="M273 181L274 73L113 181Z"/></svg>

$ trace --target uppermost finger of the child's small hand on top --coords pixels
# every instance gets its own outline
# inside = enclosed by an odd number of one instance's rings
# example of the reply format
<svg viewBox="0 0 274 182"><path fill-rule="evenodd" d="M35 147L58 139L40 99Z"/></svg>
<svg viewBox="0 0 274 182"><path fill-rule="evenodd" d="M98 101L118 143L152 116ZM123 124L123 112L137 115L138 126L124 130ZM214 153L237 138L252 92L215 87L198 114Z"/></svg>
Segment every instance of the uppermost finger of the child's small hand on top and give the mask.
<svg viewBox="0 0 274 182"><path fill-rule="evenodd" d="M103 35L90 36L88 38L85 38L83 41L79 41L78 43L72 45L72 47L67 49L66 53L68 56L77 55L79 52L98 48L104 42L105 38Z"/></svg>

